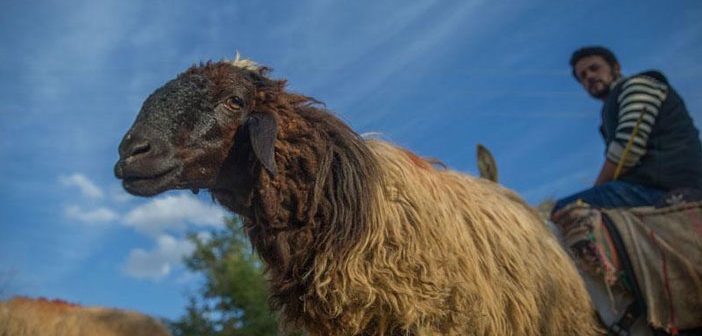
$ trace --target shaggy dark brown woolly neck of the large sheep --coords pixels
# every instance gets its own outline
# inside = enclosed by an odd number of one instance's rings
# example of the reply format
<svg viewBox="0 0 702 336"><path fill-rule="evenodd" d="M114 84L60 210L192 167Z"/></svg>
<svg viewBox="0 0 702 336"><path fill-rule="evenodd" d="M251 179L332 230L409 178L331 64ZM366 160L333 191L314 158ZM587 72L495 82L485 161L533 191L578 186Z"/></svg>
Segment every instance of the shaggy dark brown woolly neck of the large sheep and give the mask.
<svg viewBox="0 0 702 336"><path fill-rule="evenodd" d="M269 266L273 302L303 311L300 298L311 295L314 263L320 256L343 258L367 230L377 163L326 111L305 107L278 116L279 174L256 170L245 228Z"/></svg>

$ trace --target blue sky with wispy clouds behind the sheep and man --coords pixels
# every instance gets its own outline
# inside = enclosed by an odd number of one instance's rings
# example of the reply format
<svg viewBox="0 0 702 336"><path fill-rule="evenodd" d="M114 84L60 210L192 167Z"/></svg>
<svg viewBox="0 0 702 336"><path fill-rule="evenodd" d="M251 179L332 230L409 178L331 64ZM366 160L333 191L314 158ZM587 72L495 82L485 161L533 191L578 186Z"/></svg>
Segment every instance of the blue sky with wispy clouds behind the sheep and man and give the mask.
<svg viewBox="0 0 702 336"><path fill-rule="evenodd" d="M699 1L6 1L0 11L0 297L176 318L197 276L186 232L209 195L125 194L117 145L143 100L193 63L243 56L360 133L476 173L475 145L530 203L590 185L600 104L570 53L662 70L702 120Z"/></svg>

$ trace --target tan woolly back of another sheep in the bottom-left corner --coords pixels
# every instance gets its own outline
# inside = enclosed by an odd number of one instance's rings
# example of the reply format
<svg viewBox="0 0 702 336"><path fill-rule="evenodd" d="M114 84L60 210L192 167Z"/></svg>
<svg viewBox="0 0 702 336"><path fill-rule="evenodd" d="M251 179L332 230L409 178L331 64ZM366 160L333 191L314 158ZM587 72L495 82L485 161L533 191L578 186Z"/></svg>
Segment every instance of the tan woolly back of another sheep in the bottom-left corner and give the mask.
<svg viewBox="0 0 702 336"><path fill-rule="evenodd" d="M0 302L0 336L168 336L159 321L132 311L15 297Z"/></svg>

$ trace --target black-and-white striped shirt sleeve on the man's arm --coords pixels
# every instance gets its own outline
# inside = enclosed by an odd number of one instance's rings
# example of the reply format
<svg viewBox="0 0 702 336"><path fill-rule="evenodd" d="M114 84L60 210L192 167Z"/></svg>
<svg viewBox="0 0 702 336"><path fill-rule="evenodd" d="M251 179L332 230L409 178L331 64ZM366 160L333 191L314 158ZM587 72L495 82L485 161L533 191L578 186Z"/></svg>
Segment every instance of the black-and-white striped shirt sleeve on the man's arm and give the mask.
<svg viewBox="0 0 702 336"><path fill-rule="evenodd" d="M616 133L607 148L607 159L617 164L623 159L623 166L629 168L646 154L649 135L668 95L668 86L652 77L639 75L626 79L621 90L617 98ZM627 145L629 149L625 154Z"/></svg>

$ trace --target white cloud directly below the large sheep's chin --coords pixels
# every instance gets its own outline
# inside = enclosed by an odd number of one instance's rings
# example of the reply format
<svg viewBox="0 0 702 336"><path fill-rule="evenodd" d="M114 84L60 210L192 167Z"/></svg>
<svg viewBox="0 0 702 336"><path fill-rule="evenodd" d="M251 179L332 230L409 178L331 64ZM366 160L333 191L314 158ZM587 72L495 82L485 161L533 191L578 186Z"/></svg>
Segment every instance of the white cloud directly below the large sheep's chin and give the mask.
<svg viewBox="0 0 702 336"><path fill-rule="evenodd" d="M197 198L181 193L154 199L127 213L128 226L149 235L159 235L167 229L182 230L187 224L220 227L226 212L217 205L205 204Z"/></svg>

